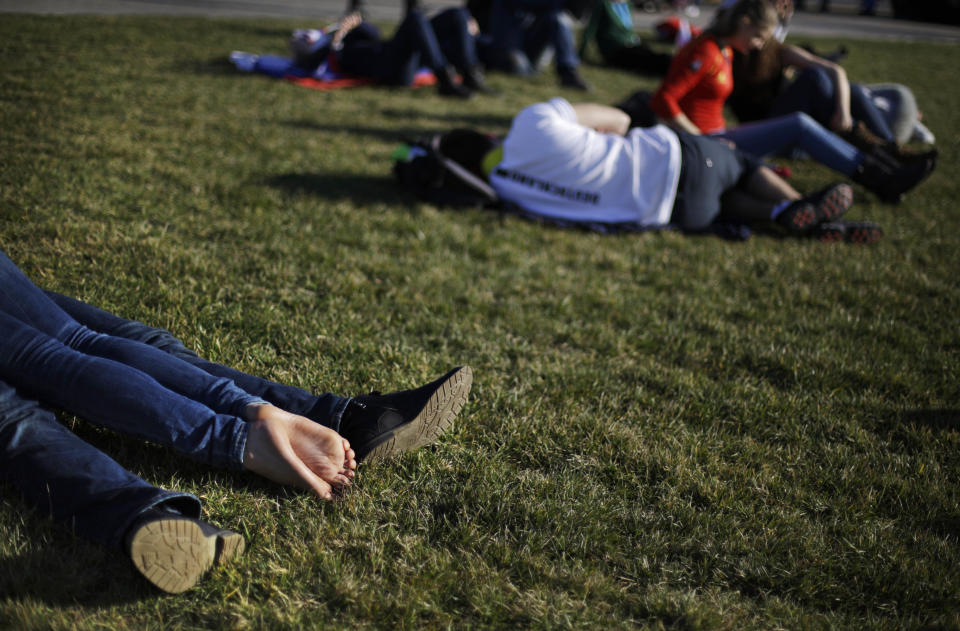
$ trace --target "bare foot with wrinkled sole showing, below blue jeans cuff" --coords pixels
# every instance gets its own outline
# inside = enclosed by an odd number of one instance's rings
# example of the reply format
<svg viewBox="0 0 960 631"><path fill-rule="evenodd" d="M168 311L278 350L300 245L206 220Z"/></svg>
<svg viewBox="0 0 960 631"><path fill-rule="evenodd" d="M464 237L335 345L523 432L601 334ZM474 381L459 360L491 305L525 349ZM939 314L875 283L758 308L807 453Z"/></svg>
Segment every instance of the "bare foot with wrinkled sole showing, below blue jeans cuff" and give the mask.
<svg viewBox="0 0 960 631"><path fill-rule="evenodd" d="M325 500L333 499L334 488L350 485L356 454L340 434L272 405L251 407L248 416L245 469Z"/></svg>

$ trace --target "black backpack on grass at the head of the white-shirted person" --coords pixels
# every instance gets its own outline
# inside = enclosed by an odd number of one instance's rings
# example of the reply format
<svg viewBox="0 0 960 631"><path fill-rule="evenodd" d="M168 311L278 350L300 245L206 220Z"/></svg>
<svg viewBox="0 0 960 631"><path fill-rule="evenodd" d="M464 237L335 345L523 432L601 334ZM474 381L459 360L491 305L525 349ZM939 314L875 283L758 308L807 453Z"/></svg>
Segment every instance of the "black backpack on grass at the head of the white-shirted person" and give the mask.
<svg viewBox="0 0 960 631"><path fill-rule="evenodd" d="M493 188L440 153L440 135L400 145L393 152L393 174L400 185L437 206L499 205Z"/></svg>

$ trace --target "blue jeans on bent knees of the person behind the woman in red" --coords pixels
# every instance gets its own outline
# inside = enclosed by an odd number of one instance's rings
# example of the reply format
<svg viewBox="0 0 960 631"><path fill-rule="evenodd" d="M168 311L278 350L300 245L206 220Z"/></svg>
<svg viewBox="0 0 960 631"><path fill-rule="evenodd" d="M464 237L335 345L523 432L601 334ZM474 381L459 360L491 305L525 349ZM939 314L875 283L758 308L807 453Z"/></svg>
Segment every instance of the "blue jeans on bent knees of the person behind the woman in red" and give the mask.
<svg viewBox="0 0 960 631"><path fill-rule="evenodd" d="M794 112L809 114L825 127L836 110L836 91L833 79L822 68L807 68L777 97L770 109L771 117ZM860 84L850 84L850 116L863 121L867 128L887 142L893 142L893 131L877 109L869 92Z"/></svg>

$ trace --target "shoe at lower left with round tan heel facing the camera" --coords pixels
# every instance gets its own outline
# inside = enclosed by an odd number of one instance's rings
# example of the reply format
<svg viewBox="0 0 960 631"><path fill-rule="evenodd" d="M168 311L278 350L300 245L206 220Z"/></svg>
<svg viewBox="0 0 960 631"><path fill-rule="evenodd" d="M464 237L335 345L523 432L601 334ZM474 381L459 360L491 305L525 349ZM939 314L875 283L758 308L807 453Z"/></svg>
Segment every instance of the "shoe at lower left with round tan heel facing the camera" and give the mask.
<svg viewBox="0 0 960 631"><path fill-rule="evenodd" d="M160 509L147 511L130 529L127 551L134 567L158 588L184 592L214 565L243 554L243 537L199 519Z"/></svg>

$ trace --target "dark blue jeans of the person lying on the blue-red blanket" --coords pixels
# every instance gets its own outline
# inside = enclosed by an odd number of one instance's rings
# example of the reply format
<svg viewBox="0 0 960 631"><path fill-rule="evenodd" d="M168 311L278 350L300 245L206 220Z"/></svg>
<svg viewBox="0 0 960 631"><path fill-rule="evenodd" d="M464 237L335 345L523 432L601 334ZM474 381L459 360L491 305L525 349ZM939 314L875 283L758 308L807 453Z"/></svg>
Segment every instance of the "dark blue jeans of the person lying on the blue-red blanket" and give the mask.
<svg viewBox="0 0 960 631"><path fill-rule="evenodd" d="M467 33L466 16L460 17L458 20L454 15L444 16L440 25L450 30L438 34L422 13L410 11L386 42L374 26L364 22L344 38L343 49L337 55L340 67L388 85L410 85L422 66L434 72L447 67L441 41L453 53L455 65L461 67L472 55L472 67L476 65L473 38Z"/></svg>

